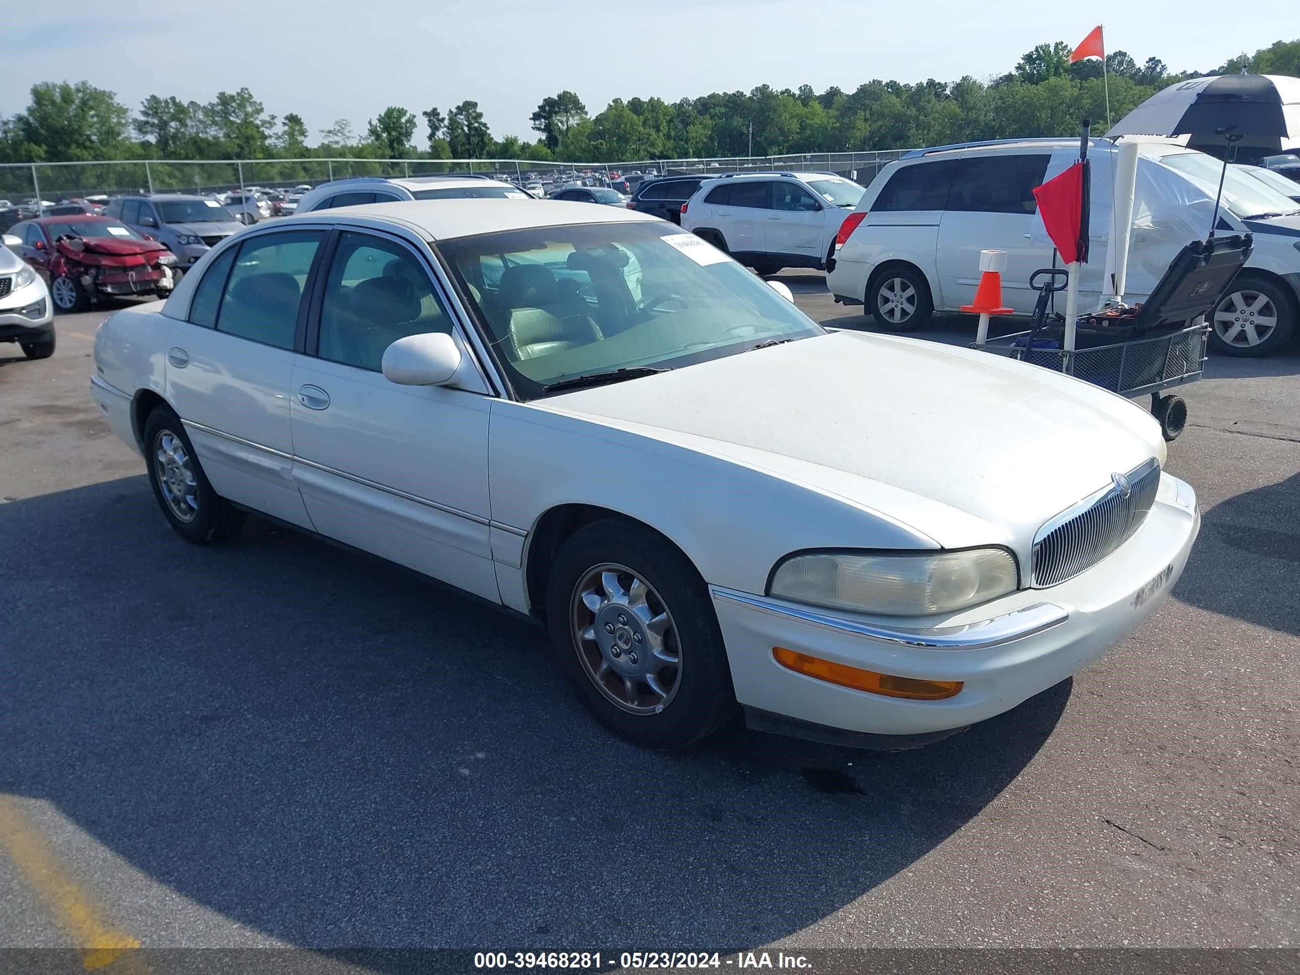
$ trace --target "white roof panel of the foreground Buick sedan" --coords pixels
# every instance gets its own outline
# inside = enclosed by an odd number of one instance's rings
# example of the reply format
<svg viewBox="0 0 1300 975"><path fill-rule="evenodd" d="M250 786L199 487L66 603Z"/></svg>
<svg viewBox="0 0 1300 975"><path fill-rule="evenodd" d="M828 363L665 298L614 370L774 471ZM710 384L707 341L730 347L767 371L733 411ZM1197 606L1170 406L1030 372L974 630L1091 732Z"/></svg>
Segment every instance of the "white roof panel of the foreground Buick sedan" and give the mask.
<svg viewBox="0 0 1300 975"><path fill-rule="evenodd" d="M503 230L569 224L663 222L659 217L649 213L615 207L593 207L589 203L567 200L451 199L338 207L312 211L302 216L282 217L276 224L289 226L294 222L332 222L335 218L346 217L368 217L404 224L429 240L450 240L458 237L495 234Z"/></svg>

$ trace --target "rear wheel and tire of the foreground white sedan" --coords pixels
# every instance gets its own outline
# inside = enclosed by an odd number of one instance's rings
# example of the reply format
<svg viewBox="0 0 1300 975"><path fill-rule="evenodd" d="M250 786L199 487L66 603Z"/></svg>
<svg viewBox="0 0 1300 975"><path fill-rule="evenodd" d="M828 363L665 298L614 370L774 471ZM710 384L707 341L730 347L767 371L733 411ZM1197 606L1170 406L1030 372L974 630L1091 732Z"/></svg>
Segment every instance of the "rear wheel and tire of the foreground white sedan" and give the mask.
<svg viewBox="0 0 1300 975"><path fill-rule="evenodd" d="M187 542L220 542L243 526L244 512L212 490L185 425L168 407L144 421L144 456L153 498Z"/></svg>

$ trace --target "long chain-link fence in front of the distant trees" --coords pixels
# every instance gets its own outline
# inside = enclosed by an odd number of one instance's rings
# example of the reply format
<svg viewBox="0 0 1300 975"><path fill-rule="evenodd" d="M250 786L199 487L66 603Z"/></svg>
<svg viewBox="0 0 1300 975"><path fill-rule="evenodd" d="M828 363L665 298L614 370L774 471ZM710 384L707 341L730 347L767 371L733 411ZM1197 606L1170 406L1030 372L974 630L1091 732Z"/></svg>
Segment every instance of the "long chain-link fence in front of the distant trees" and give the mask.
<svg viewBox="0 0 1300 975"><path fill-rule="evenodd" d="M213 194L243 188L311 187L350 177L488 176L524 183L560 185L573 176L629 173L708 174L734 172L829 172L867 185L906 150L822 152L793 156L556 162L520 159L257 159L114 160L0 165L0 212L43 209L64 200L133 192Z"/></svg>

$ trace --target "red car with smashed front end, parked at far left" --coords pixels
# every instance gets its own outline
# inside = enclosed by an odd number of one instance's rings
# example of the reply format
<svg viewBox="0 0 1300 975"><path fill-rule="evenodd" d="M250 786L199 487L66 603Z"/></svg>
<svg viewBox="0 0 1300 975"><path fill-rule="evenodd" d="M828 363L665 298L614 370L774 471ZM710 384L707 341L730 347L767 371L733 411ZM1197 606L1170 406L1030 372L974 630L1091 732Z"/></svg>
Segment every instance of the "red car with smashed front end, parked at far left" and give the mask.
<svg viewBox="0 0 1300 975"><path fill-rule="evenodd" d="M49 282L61 312L86 311L104 298L157 295L176 283L176 255L120 220L91 214L40 217L9 230L18 256Z"/></svg>

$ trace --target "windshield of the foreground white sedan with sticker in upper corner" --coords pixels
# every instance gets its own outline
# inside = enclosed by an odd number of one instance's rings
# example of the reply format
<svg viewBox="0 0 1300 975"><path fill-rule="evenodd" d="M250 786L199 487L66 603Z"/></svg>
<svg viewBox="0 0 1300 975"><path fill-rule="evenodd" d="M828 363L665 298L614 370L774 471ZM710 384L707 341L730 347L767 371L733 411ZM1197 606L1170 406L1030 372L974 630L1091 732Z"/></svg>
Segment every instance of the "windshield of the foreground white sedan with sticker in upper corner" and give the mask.
<svg viewBox="0 0 1300 975"><path fill-rule="evenodd" d="M436 246L524 399L576 377L680 368L824 334L760 278L671 224L532 228Z"/></svg>

